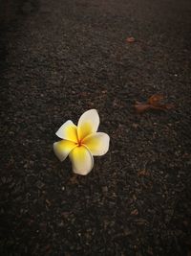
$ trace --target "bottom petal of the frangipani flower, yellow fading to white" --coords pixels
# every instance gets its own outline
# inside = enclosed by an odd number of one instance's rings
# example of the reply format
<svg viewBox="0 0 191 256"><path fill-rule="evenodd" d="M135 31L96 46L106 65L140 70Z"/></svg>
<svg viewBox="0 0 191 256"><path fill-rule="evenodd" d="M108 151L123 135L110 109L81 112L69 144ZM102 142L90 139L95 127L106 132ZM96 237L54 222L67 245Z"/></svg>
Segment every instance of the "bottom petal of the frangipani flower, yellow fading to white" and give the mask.
<svg viewBox="0 0 191 256"><path fill-rule="evenodd" d="M77 175L88 175L94 166L91 152L83 146L75 147L69 154L73 163L73 172Z"/></svg>

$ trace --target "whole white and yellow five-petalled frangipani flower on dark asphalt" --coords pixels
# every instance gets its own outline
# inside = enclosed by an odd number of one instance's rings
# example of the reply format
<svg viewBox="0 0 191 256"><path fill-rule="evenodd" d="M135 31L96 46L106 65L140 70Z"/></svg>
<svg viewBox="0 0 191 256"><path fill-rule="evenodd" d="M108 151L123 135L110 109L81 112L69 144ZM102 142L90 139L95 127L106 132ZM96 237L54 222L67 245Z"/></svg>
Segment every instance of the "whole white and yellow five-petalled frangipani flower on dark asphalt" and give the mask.
<svg viewBox="0 0 191 256"><path fill-rule="evenodd" d="M98 113L91 109L81 115L77 127L69 120L55 133L62 140L53 143L53 151L60 161L69 155L75 174L88 175L94 166L93 156L109 150L110 137L96 132L98 126Z"/></svg>

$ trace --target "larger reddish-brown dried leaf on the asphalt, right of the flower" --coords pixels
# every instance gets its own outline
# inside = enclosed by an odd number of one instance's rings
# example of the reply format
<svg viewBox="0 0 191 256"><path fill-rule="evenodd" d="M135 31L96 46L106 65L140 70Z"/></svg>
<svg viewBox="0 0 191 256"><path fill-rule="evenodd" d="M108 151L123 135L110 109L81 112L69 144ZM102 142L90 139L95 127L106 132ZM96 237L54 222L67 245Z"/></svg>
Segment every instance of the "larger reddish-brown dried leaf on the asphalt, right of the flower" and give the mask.
<svg viewBox="0 0 191 256"><path fill-rule="evenodd" d="M161 94L154 94L151 96L146 103L136 102L135 108L138 113L142 113L144 111L155 109L155 110L166 110L171 109L174 105L170 104L161 104L161 101L164 99Z"/></svg>

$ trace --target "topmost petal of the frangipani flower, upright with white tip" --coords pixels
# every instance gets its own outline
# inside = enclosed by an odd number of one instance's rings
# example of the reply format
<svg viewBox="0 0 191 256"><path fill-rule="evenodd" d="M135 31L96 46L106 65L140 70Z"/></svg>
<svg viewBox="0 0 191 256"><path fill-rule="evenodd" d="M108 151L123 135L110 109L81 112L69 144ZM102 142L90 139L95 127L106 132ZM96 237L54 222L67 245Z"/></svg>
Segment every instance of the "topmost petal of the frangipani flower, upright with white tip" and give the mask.
<svg viewBox="0 0 191 256"><path fill-rule="evenodd" d="M99 116L96 109L90 109L83 113L77 124L78 139L82 140L87 135L96 132L99 126Z"/></svg>

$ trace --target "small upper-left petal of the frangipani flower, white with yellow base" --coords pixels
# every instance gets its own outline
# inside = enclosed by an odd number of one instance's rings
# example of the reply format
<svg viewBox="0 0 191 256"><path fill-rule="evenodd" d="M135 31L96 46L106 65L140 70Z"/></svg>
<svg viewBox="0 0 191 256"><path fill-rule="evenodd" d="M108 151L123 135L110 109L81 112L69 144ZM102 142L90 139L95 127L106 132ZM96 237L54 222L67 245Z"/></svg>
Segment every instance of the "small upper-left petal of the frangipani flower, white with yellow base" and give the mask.
<svg viewBox="0 0 191 256"><path fill-rule="evenodd" d="M77 128L71 120L64 123L55 134L61 139L77 142Z"/></svg>

